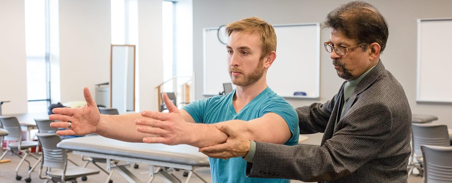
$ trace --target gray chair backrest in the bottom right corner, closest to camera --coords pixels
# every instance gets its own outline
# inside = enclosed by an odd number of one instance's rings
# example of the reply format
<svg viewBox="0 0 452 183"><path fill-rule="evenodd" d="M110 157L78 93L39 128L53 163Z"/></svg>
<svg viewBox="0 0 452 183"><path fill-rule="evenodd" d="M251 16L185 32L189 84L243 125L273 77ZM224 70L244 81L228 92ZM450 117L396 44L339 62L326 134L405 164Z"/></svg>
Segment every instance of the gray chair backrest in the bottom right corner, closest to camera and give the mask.
<svg viewBox="0 0 452 183"><path fill-rule="evenodd" d="M422 145L426 183L452 183L452 147Z"/></svg>

